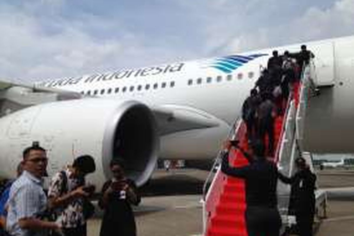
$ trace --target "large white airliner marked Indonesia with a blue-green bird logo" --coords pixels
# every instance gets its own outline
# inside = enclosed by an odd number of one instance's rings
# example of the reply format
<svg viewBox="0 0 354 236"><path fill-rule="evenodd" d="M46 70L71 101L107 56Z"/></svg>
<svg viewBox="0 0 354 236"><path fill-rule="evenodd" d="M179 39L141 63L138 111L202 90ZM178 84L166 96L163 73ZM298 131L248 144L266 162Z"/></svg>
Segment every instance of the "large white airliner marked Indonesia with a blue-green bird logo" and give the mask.
<svg viewBox="0 0 354 236"><path fill-rule="evenodd" d="M78 155L95 157L88 181L97 189L117 156L138 186L158 158L214 159L272 51L295 53L302 44L315 54L321 92L309 100L304 149L354 152L354 36L348 36L34 84L0 79L0 177L14 177L33 141L48 151L49 175Z"/></svg>

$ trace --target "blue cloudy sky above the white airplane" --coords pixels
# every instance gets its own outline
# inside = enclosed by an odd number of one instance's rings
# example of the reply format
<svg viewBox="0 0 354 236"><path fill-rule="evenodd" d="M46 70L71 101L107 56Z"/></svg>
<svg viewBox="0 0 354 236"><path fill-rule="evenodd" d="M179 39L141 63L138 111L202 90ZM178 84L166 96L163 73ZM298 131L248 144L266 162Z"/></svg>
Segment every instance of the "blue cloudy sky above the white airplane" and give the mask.
<svg viewBox="0 0 354 236"><path fill-rule="evenodd" d="M354 0L2 0L0 32L32 82L354 35Z"/></svg>

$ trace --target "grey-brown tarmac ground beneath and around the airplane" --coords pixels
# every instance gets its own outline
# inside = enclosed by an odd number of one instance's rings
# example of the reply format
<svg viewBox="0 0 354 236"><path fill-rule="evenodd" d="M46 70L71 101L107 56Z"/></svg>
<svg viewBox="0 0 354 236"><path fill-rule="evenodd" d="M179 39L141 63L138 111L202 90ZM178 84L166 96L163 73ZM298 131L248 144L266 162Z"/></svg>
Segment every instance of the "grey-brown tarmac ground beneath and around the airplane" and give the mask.
<svg viewBox="0 0 354 236"><path fill-rule="evenodd" d="M202 235L202 186L208 172L196 169L158 170L140 189L141 204L134 209L138 236ZM354 189L354 171L318 172L318 187ZM337 191L336 190L336 191ZM336 192L335 191L335 192ZM350 194L349 194L350 195ZM348 195L348 196L349 196ZM354 235L353 196L329 195L327 218L316 227L316 236ZM98 236L102 212L88 222L88 236ZM119 226L117 226L119 227Z"/></svg>

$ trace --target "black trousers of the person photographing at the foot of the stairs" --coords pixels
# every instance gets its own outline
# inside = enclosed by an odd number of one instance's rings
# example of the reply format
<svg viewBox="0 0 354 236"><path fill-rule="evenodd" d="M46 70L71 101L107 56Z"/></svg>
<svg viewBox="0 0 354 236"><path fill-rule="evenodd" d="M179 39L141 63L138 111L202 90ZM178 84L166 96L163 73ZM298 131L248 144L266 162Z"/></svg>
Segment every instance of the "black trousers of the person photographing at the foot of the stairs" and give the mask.
<svg viewBox="0 0 354 236"><path fill-rule="evenodd" d="M247 207L248 236L278 236L281 219L277 208Z"/></svg>

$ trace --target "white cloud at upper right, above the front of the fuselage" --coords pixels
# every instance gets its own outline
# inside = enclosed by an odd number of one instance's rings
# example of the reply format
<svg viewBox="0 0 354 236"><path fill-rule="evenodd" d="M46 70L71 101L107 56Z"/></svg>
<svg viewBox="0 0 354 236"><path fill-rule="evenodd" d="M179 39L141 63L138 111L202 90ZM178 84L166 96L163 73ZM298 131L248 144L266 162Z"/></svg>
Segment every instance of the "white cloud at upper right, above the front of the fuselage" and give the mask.
<svg viewBox="0 0 354 236"><path fill-rule="evenodd" d="M339 0L321 9L309 7L289 22L255 28L231 36L217 52L230 53L301 41L347 36L354 33L354 0ZM226 33L227 35L227 33ZM215 40L213 37L210 41Z"/></svg>

